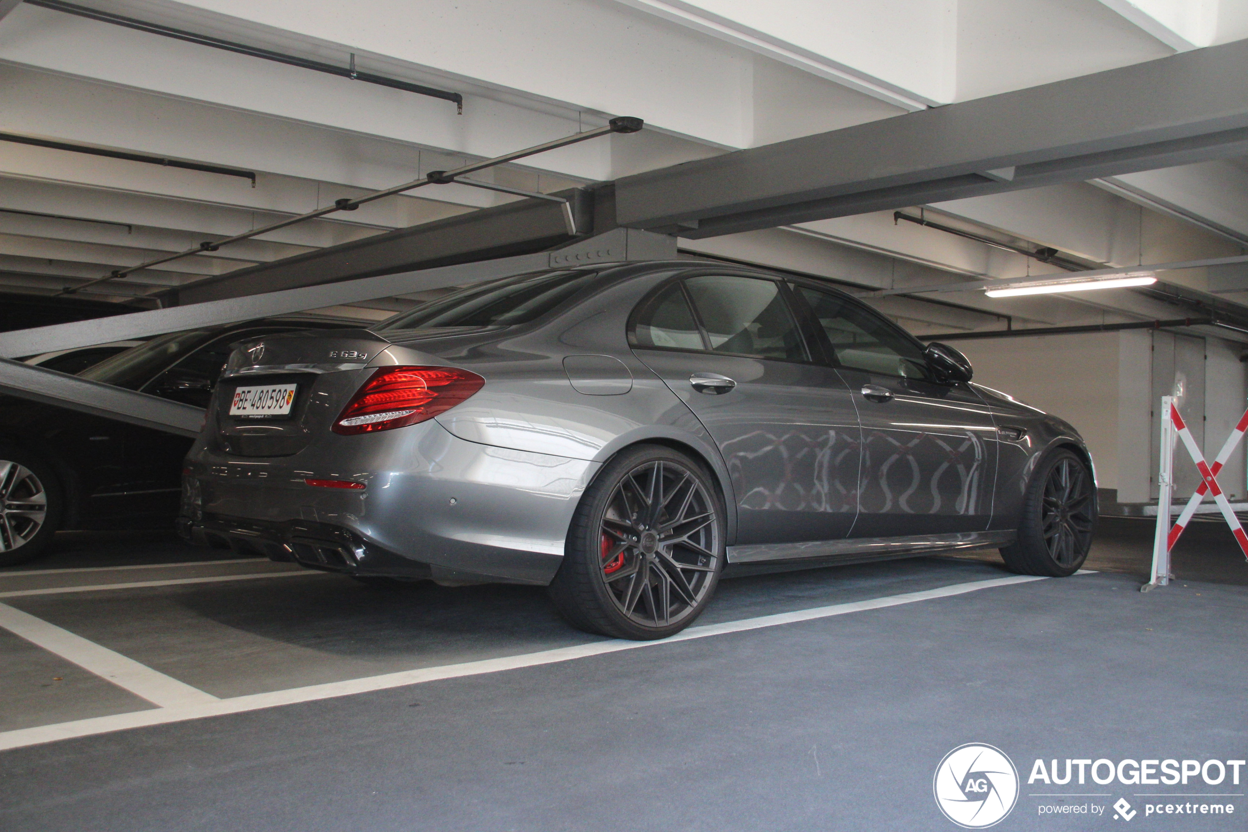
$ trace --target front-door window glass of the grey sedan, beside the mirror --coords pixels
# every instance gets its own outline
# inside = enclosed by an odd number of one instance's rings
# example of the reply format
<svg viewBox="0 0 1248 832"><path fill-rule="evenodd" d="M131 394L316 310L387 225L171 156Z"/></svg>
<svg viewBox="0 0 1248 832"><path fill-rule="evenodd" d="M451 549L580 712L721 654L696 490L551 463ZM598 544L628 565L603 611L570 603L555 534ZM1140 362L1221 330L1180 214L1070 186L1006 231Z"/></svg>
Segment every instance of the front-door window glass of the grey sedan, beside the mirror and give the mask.
<svg viewBox="0 0 1248 832"><path fill-rule="evenodd" d="M831 342L841 367L867 373L930 379L922 351L887 323L844 298L800 287Z"/></svg>

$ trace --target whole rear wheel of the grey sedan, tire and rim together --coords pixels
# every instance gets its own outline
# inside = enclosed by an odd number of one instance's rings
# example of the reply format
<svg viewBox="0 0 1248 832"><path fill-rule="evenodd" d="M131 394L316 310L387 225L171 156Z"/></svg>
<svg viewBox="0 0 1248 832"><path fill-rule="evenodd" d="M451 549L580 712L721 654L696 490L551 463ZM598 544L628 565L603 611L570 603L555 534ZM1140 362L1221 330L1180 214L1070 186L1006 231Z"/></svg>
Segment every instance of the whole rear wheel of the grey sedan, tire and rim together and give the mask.
<svg viewBox="0 0 1248 832"><path fill-rule="evenodd" d="M629 448L585 489L550 600L577 629L646 641L701 615L724 571L724 509L688 455Z"/></svg>

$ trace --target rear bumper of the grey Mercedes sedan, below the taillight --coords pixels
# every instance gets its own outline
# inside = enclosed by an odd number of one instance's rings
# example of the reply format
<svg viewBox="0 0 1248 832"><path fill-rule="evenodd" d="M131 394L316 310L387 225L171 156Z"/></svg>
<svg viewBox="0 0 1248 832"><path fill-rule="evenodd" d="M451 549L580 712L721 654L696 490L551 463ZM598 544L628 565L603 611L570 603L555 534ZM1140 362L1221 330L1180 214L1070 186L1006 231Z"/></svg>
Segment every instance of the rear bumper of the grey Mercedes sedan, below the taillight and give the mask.
<svg viewBox="0 0 1248 832"><path fill-rule="evenodd" d="M437 422L242 458L201 440L178 528L195 543L361 575L549 584L597 463L459 439ZM363 490L306 479L352 479Z"/></svg>

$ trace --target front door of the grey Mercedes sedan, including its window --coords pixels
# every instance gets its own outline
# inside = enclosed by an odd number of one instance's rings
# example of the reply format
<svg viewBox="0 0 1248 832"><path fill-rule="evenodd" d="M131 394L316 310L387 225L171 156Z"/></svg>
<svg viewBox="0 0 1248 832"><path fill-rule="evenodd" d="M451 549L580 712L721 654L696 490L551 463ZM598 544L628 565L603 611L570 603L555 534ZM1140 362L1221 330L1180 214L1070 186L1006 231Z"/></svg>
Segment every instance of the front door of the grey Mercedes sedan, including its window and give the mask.
<svg viewBox="0 0 1248 832"><path fill-rule="evenodd" d="M862 425L851 536L987 529L996 427L975 389L938 380L921 344L866 307L805 284L796 294L819 321Z"/></svg>

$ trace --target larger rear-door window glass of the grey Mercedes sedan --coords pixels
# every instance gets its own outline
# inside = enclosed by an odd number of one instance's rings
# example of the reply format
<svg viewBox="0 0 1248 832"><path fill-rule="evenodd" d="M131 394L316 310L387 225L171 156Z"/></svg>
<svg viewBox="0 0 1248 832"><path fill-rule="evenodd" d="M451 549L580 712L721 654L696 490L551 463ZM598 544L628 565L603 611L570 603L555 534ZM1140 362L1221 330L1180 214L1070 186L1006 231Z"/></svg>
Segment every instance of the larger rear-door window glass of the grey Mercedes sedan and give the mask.
<svg viewBox="0 0 1248 832"><path fill-rule="evenodd" d="M706 276L685 281L715 352L806 360L806 347L780 286L753 277Z"/></svg>

